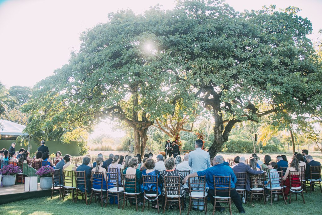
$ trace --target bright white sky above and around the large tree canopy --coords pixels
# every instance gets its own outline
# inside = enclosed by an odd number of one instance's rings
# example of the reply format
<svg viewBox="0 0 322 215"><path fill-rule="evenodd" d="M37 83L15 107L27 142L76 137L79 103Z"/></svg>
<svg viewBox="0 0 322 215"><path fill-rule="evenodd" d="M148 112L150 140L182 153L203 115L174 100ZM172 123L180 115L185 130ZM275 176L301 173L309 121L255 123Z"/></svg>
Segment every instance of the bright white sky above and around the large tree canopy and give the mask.
<svg viewBox="0 0 322 215"><path fill-rule="evenodd" d="M109 12L130 8L142 13L159 3L172 9L174 0L0 0L0 81L6 87L33 86L68 62L80 45L80 32L108 21ZM226 0L235 10L297 6L312 22L312 41L322 29L321 0ZM107 125L100 127L110 131ZM117 132L112 132L117 133ZM123 134L124 135L124 134ZM120 135L118 135L120 136Z"/></svg>

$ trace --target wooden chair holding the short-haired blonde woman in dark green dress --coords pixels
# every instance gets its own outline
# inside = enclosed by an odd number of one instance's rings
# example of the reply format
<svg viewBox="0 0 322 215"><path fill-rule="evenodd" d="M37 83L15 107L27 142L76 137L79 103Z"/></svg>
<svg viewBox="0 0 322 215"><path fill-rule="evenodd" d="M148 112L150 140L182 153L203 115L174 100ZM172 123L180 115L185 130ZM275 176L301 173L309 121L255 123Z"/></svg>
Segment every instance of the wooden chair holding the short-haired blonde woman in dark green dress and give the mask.
<svg viewBox="0 0 322 215"><path fill-rule="evenodd" d="M122 174L123 177L123 207L126 202L126 206L128 206L128 200L135 200L135 206L137 208L137 198L141 194L141 191L137 191L137 177L136 175L130 175L130 174ZM127 192L129 189L133 190L134 192ZM131 201L130 201L131 202ZM137 210L138 211L138 210Z"/></svg>

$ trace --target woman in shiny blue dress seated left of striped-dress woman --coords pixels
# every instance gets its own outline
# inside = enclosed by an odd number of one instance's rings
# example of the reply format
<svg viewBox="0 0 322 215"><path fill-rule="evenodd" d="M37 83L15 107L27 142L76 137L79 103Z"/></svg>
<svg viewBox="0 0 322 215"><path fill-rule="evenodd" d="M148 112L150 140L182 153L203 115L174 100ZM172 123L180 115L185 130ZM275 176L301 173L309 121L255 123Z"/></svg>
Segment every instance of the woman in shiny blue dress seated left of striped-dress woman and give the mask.
<svg viewBox="0 0 322 215"><path fill-rule="evenodd" d="M158 170L155 170L154 167L155 167L156 163L154 162L154 160L152 160L151 158L147 159L144 163L144 166L146 167L145 170L142 171L142 175L148 175L148 176L154 176L156 175L157 178L158 178L158 193L161 194L161 181L160 181L160 173ZM156 182L156 181L154 181ZM156 194L156 187L152 187L152 184L148 184L146 183L145 186L143 186L143 183L141 185L141 191L142 193L147 193L147 194ZM152 201L152 208L158 208L158 205L157 205L157 201Z"/></svg>

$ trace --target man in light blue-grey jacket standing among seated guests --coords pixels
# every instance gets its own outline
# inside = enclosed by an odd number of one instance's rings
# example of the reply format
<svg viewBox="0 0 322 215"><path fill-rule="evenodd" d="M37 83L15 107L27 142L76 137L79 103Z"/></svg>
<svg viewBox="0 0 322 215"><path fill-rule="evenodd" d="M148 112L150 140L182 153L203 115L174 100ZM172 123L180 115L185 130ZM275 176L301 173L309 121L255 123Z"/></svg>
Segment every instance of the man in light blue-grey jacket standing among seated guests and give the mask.
<svg viewBox="0 0 322 215"><path fill-rule="evenodd" d="M210 155L208 151L202 150L203 146L202 140L196 140L194 142L194 151L189 153L189 166L191 167L191 173L195 173L198 171L204 171L210 167ZM195 188L194 190L197 190ZM203 202L193 202L194 208L193 210L198 210L197 206L199 205L199 210L204 210Z"/></svg>

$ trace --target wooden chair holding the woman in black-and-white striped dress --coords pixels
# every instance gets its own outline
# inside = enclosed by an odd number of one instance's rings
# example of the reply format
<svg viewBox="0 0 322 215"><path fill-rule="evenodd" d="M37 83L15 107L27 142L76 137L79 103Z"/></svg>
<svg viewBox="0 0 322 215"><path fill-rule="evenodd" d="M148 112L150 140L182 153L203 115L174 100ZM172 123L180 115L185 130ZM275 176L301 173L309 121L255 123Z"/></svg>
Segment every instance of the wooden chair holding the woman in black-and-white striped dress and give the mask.
<svg viewBox="0 0 322 215"><path fill-rule="evenodd" d="M178 202L179 211L181 215L181 193L180 193L180 185L181 179L179 176L163 176L164 181L164 189L165 189L165 201L163 213L166 211L166 206L169 206L171 201ZM177 193L177 195L168 195L168 193ZM176 204L175 204L176 205Z"/></svg>

